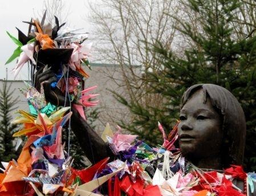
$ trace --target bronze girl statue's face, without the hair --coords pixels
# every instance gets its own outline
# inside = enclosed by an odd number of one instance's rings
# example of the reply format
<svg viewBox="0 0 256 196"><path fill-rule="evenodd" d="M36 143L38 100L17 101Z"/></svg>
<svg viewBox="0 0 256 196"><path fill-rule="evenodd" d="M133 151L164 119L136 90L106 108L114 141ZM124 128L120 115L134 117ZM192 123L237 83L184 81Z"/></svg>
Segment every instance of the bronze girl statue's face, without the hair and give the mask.
<svg viewBox="0 0 256 196"><path fill-rule="evenodd" d="M196 91L180 111L178 136L181 153L189 160L218 156L222 143L220 115L210 100Z"/></svg>

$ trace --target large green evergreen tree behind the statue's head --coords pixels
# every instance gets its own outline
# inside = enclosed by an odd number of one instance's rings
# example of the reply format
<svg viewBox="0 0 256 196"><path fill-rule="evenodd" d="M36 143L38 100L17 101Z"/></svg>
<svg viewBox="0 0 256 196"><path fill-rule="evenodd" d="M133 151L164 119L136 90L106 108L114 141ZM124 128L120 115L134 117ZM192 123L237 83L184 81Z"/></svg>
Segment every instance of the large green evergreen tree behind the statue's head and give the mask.
<svg viewBox="0 0 256 196"><path fill-rule="evenodd" d="M186 1L191 13L197 15L200 31L194 32L192 25L174 18L177 30L190 40L192 45L184 55L165 50L161 43L148 50L155 50L158 70L144 73L147 80L147 93L162 96L161 109L135 103L115 93L115 97L129 108L136 117L130 124L120 122L123 128L139 134L149 144L160 144L161 136L157 129L160 121L166 132L178 119L180 100L185 89L193 84L212 83L228 89L245 111L247 121L247 140L245 164L253 168L256 127L256 37L249 35L237 39L234 28L234 14L241 4L234 0L189 0Z"/></svg>

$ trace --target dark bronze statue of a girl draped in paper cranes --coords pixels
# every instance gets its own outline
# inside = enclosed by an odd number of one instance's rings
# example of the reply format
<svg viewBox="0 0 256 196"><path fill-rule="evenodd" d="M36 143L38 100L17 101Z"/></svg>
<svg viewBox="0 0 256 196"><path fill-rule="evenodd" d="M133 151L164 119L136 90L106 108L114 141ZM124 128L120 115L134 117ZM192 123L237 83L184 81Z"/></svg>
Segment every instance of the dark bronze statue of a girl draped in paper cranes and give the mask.
<svg viewBox="0 0 256 196"><path fill-rule="evenodd" d="M43 78L43 79L42 79ZM44 93L52 104L63 104L63 95L53 92L56 80L50 71L36 76L37 86L44 82ZM114 157L97 133L72 109L71 129L87 158L94 164ZM214 84L196 84L188 88L181 101L178 136L181 154L202 169L222 170L231 164L242 165L246 122L241 105L227 89ZM243 182L233 182L243 190ZM254 194L252 194L254 195Z"/></svg>

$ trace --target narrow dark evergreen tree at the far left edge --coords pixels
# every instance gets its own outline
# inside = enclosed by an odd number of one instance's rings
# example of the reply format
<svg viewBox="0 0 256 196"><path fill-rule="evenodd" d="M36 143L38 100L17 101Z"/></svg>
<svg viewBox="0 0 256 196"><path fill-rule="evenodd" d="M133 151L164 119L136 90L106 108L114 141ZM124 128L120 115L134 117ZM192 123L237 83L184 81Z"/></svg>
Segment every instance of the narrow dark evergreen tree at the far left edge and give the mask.
<svg viewBox="0 0 256 196"><path fill-rule="evenodd" d="M17 159L18 153L15 152L13 133L17 129L16 124L11 124L11 112L17 109L15 104L18 97L13 97L14 91L10 89L11 84L7 85L7 80L3 80L0 89L0 157L2 161L9 162Z"/></svg>

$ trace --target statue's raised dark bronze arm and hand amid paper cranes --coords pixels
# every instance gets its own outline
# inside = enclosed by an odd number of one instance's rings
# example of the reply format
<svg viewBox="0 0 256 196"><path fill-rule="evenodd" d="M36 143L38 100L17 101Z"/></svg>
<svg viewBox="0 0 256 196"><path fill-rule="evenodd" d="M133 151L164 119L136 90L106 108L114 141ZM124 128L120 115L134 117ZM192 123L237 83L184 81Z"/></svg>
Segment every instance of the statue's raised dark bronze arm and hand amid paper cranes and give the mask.
<svg viewBox="0 0 256 196"><path fill-rule="evenodd" d="M51 83L56 81L56 77L51 70L42 73L42 68L35 74L35 87L40 91L41 83L43 83L44 95L46 101L54 105L65 104L65 97L58 88L51 89ZM70 105L67 103L66 106ZM71 107L71 129L74 132L78 142L83 149L86 157L95 164L105 157L113 157L108 144L91 128L90 125L79 115L78 111Z"/></svg>

